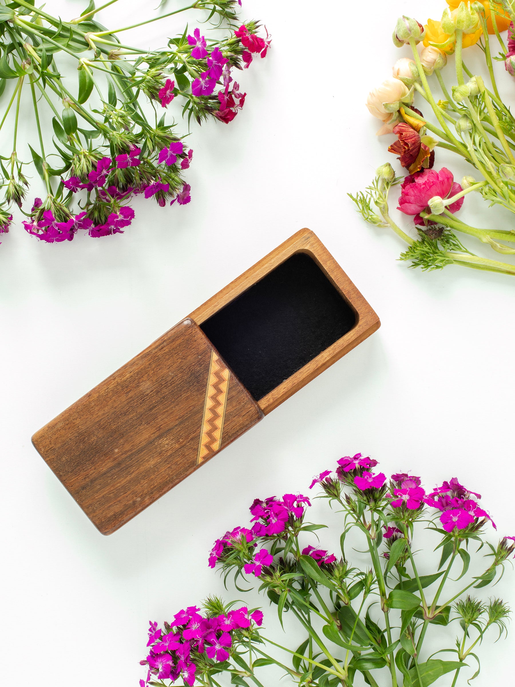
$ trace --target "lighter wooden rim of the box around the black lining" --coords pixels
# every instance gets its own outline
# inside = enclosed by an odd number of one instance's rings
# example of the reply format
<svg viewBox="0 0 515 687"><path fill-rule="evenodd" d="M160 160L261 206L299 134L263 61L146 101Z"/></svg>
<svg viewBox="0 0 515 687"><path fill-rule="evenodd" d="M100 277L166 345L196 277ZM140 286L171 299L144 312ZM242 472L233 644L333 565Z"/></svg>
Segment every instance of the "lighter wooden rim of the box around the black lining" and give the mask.
<svg viewBox="0 0 515 687"><path fill-rule="evenodd" d="M327 370L330 365L352 350L358 343L367 339L380 327L379 317L334 260L328 249L321 243L321 240L310 229L301 229L297 234L290 236L288 240L262 260L256 262L233 282L196 308L190 317L196 324L202 324L216 311L250 289L253 284L259 282L266 274L295 253L306 253L317 262L321 270L356 313L356 325L345 336L335 341L332 346L323 350L298 372L295 372L269 394L261 398L258 405L264 415L286 401L321 372Z"/></svg>

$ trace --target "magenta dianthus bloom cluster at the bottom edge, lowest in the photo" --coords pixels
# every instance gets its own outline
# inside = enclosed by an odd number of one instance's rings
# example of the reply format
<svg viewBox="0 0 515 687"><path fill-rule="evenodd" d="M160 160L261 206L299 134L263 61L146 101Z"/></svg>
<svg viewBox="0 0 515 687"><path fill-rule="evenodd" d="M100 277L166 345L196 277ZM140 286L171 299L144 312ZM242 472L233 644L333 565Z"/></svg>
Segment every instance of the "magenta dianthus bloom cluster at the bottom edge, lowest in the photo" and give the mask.
<svg viewBox="0 0 515 687"><path fill-rule="evenodd" d="M172 622L165 622L164 631L157 627L157 622L150 622L150 653L140 662L148 666L148 674L146 680L139 681L140 687L152 679L169 679L171 684L182 679L183 683L193 685L203 654L213 662L227 660L236 643L236 633L263 622L262 611L249 613L246 606L214 617L203 616L200 610L189 606L179 611Z"/></svg>

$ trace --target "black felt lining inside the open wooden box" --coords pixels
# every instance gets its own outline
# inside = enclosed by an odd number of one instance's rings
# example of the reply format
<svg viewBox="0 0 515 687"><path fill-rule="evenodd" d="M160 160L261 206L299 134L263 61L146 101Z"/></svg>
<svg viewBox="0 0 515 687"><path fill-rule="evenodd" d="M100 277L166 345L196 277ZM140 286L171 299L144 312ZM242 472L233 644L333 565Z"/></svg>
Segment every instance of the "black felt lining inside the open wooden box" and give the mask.
<svg viewBox="0 0 515 687"><path fill-rule="evenodd" d="M317 263L297 253L201 328L259 401L355 324L354 311Z"/></svg>

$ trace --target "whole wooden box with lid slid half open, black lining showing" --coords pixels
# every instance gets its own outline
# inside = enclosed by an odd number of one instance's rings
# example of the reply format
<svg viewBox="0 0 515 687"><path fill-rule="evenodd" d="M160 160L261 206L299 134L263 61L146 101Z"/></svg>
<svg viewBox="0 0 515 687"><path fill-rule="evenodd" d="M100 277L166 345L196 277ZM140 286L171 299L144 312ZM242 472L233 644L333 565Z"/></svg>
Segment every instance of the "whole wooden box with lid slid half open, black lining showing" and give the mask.
<svg viewBox="0 0 515 687"><path fill-rule="evenodd" d="M317 236L301 229L32 442L111 534L379 326Z"/></svg>

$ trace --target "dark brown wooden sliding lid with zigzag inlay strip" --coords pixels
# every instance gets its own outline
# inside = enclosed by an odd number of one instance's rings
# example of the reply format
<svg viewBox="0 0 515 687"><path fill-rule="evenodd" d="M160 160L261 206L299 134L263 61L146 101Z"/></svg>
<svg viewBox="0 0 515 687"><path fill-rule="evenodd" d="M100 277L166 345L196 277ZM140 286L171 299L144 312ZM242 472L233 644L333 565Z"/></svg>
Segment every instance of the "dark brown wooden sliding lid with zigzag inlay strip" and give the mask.
<svg viewBox="0 0 515 687"><path fill-rule="evenodd" d="M102 534L111 534L263 414L184 319L32 437Z"/></svg>

